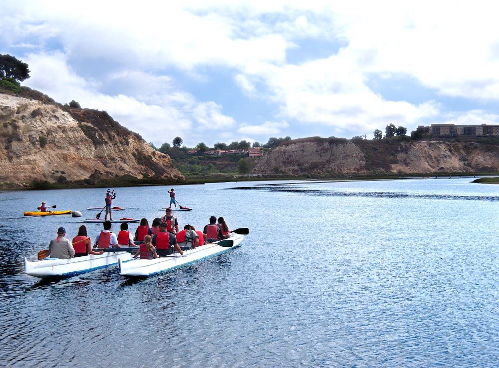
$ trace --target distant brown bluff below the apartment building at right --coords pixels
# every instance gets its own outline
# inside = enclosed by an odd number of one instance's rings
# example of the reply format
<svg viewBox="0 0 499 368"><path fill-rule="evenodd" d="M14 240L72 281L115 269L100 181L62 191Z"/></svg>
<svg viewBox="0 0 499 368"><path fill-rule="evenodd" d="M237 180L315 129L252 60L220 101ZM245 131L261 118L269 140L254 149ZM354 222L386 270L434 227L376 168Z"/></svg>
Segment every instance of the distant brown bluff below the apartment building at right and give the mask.
<svg viewBox="0 0 499 368"><path fill-rule="evenodd" d="M260 175L382 175L499 171L499 142L304 138L286 141L251 171Z"/></svg>

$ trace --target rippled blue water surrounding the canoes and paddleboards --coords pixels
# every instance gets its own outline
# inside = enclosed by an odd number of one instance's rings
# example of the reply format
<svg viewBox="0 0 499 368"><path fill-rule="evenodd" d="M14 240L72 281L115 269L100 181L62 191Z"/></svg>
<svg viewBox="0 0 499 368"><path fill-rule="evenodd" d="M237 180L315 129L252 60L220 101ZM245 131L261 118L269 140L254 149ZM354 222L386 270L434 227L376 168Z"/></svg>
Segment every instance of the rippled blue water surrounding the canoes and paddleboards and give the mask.
<svg viewBox="0 0 499 368"><path fill-rule="evenodd" d="M142 281L38 282L22 257L81 218L2 219L0 366L497 367L499 185L472 180L175 186L195 208L181 227L222 215L250 235ZM169 188L116 188L115 217L152 221ZM93 218L104 194L2 192L2 217L44 200Z"/></svg>

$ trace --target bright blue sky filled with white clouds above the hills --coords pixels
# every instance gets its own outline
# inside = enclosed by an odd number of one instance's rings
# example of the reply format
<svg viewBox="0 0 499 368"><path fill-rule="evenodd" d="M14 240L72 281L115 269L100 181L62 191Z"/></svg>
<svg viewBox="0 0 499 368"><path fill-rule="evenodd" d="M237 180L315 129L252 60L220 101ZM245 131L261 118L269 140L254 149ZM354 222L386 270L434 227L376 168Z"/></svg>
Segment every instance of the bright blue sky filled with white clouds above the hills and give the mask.
<svg viewBox="0 0 499 368"><path fill-rule="evenodd" d="M157 147L499 124L493 1L2 0L22 85Z"/></svg>

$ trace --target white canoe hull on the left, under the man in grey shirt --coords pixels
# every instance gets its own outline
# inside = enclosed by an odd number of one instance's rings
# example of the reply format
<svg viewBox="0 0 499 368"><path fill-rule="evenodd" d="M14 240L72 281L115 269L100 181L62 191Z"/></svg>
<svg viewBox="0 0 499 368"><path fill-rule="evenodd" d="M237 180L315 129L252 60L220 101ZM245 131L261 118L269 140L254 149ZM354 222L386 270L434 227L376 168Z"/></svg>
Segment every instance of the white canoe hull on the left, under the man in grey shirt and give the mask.
<svg viewBox="0 0 499 368"><path fill-rule="evenodd" d="M132 255L128 252L106 252L69 259L45 258L40 261L28 261L24 257L24 272L41 279L65 278L130 259Z"/></svg>

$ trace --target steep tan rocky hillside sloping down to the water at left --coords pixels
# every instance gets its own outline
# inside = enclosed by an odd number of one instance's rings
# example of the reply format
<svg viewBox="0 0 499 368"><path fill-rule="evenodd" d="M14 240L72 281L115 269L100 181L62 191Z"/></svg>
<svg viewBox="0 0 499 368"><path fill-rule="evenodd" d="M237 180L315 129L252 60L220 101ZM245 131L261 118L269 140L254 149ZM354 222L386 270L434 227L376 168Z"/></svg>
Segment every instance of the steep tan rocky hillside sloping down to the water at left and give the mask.
<svg viewBox="0 0 499 368"><path fill-rule="evenodd" d="M168 155L106 112L64 107L23 89L24 97L0 93L0 186L185 180Z"/></svg>

